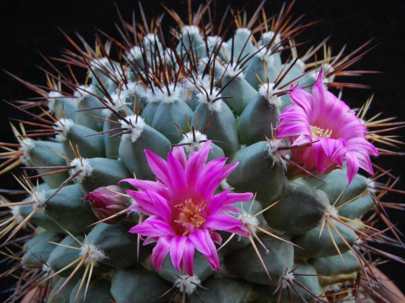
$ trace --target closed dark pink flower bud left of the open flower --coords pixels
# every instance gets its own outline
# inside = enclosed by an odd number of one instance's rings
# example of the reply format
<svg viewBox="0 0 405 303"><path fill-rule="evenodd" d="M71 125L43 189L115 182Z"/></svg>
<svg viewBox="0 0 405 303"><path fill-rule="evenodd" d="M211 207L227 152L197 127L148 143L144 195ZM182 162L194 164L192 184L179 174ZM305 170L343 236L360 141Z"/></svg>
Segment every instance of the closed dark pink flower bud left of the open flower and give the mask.
<svg viewBox="0 0 405 303"><path fill-rule="evenodd" d="M117 192L125 193L117 185L99 187L96 190L89 192L89 194L83 199L90 201L94 215L98 219L103 220L127 209L129 198L122 194L118 194ZM104 223L115 224L122 218L123 215L117 216L104 221Z"/></svg>

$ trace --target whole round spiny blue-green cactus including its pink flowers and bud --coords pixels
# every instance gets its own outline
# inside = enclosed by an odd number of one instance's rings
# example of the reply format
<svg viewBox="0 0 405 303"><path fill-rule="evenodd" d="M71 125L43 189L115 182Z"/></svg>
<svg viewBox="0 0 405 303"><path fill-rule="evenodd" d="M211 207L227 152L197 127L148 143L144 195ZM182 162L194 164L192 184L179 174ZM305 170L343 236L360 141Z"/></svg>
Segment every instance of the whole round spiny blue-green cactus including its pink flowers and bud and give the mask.
<svg viewBox="0 0 405 303"><path fill-rule="evenodd" d="M356 87L335 77L362 73L347 69L369 42L352 58L318 57L325 41L299 56L312 24L263 4L249 21L230 10L219 32L211 4L192 15L190 2L188 22L165 7L173 40L140 6L123 42L68 38L70 75L49 62L48 88L13 76L41 100L9 103L32 119L0 143L0 173L21 166L25 195L1 196L20 274L9 300L349 302L378 292L371 252L404 263L373 246L402 242L380 201L396 179L371 162L395 154L385 133L403 123L328 90Z"/></svg>

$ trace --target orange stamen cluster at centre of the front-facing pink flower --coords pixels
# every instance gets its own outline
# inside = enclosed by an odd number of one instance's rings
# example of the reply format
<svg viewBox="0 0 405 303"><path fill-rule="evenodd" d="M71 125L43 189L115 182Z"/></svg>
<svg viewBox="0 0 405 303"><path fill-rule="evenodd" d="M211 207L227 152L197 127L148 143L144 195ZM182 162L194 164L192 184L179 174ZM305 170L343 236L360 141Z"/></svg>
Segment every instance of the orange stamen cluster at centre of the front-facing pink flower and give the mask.
<svg viewBox="0 0 405 303"><path fill-rule="evenodd" d="M179 209L180 214L174 222L180 223L186 227L183 236L187 235L191 229L200 229L206 222L205 203L201 201L198 204L193 203L191 198L186 199L184 202L175 205Z"/></svg>

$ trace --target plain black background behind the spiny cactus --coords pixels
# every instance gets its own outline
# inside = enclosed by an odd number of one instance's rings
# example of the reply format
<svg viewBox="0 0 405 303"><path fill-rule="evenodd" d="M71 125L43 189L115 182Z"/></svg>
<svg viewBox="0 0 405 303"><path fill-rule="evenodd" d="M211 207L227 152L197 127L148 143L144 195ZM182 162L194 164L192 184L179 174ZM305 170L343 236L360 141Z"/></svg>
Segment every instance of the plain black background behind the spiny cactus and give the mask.
<svg viewBox="0 0 405 303"><path fill-rule="evenodd" d="M222 17L225 1L218 2L218 16ZM116 1L124 19L131 20L132 10L138 10L135 1ZM146 16L156 16L163 12L160 2L141 1ZM180 16L187 12L187 2L172 0L162 1L169 8L175 9ZM194 9L197 3L193 1ZM260 1L251 1L248 11L253 13ZM233 1L232 5L241 7L245 1ZM265 4L268 16L277 13L282 1L268 0ZM328 44L333 47L336 55L340 48L347 44L346 54L374 38L372 45L377 45L373 51L355 64L358 70L377 70L381 74L367 75L352 79L337 79L344 82L349 80L355 83L372 86L371 90L345 89L343 99L352 107L360 106L368 96L375 93L373 108L369 117L380 111L383 117L398 117L405 120L404 77L405 59L405 4L401 0L370 1L370 0L298 0L292 14L298 17L305 14L303 23L315 20L319 24L307 29L297 41L313 41L319 43L323 38L331 35ZM137 13L138 21L140 15ZM249 15L248 15L249 16ZM185 18L184 18L185 19ZM173 20L166 14L164 18L164 31L168 25L174 26ZM46 57L58 57L63 48L73 49L58 27L69 36L75 32L82 35L90 45L93 45L95 28L102 29L108 34L119 37L114 27L118 23L112 1L58 1L58 0L2 0L0 2L0 68L7 70L26 81L45 85L44 73L36 66L47 68L47 64L38 54ZM75 39L78 41L78 39ZM66 72L60 64L58 67ZM0 71L0 99L8 101L36 97L34 92L26 89L10 76ZM8 117L19 117L16 111L0 103L0 141L12 142ZM397 132L402 135L403 130ZM394 175L403 174L405 161L401 157L382 157L375 161L386 169L392 169ZM16 188L10 175L0 177L0 188ZM396 188L405 189L405 183L400 180ZM403 196L389 194L384 201L400 203ZM390 217L397 227L404 230L404 213L391 211ZM402 249L385 247L386 250L404 257ZM404 267L395 262L381 266L381 269L402 289L401 281ZM3 288L3 286L2 286Z"/></svg>

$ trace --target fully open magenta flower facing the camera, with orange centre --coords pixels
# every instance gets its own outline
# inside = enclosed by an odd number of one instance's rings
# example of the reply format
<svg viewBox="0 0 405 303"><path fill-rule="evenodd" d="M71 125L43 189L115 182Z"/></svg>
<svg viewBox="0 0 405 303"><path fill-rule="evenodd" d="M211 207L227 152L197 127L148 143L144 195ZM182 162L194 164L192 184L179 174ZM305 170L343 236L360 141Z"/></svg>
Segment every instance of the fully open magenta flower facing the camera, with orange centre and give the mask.
<svg viewBox="0 0 405 303"><path fill-rule="evenodd" d="M183 147L176 146L168 154L167 162L145 150L149 167L157 182L124 179L139 191L127 190L136 203L130 210L149 215L130 232L147 236L144 245L156 242L152 263L162 267L170 253L173 266L183 273L193 275L194 249L203 254L213 270L220 267L215 243L222 239L215 230L224 230L242 236L249 231L236 218L223 214L238 213L232 206L237 201L247 201L252 193L230 193L225 190L215 194L218 185L236 167L225 165L226 158L207 162L211 141L186 159ZM225 165L225 166L224 166Z"/></svg>

